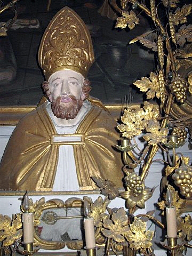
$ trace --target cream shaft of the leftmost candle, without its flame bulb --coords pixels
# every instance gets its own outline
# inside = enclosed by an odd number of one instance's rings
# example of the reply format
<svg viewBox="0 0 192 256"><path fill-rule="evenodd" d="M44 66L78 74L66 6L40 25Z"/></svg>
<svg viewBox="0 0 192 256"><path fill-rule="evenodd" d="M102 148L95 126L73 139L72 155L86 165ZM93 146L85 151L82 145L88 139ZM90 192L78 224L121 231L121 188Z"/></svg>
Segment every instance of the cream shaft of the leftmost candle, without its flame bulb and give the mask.
<svg viewBox="0 0 192 256"><path fill-rule="evenodd" d="M23 213L23 242L33 243L34 241L34 214L33 213Z"/></svg>

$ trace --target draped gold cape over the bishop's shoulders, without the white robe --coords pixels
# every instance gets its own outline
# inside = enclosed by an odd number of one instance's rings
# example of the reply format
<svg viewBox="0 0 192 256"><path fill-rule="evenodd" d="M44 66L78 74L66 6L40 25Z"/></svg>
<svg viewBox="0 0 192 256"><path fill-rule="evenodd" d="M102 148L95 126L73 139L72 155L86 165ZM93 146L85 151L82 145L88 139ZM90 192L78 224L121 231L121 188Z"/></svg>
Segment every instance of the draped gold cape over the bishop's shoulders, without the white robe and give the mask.
<svg viewBox="0 0 192 256"><path fill-rule="evenodd" d="M81 190L97 188L90 178L93 176L123 187L121 153L113 149L118 140L116 122L98 105L93 101L91 110L78 125L76 133L82 134L83 143L73 145ZM51 143L54 134L58 135L46 103L21 119L5 148L0 189L52 190L59 155L59 143Z"/></svg>

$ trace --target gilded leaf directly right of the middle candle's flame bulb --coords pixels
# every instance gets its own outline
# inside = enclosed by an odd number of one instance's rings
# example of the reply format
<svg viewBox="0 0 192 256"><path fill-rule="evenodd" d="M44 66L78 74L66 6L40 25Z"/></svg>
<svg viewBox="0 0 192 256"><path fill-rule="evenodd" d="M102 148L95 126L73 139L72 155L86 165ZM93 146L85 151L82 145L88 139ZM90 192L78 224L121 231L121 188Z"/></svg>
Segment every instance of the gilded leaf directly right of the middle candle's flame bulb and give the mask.
<svg viewBox="0 0 192 256"><path fill-rule="evenodd" d="M103 200L103 198L99 196L94 204L91 204L90 217L93 217L95 227L101 227L102 220L108 217L106 210L109 203L110 200L108 199L108 197L105 197L105 199Z"/></svg>

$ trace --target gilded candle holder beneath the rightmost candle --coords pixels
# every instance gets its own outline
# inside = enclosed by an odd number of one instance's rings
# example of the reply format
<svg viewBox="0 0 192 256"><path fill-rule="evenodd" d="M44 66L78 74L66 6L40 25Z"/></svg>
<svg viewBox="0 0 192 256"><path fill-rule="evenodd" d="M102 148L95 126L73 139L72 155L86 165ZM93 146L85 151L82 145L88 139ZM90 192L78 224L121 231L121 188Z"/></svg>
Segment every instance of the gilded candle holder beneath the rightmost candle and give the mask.
<svg viewBox="0 0 192 256"><path fill-rule="evenodd" d="M161 245L163 245L163 247L167 250L171 251L171 256L175 256L176 255L176 251L182 247L184 244L186 244L186 241L183 241L182 239L178 238L178 237L168 237L165 236L165 241L164 242L160 242Z"/></svg>

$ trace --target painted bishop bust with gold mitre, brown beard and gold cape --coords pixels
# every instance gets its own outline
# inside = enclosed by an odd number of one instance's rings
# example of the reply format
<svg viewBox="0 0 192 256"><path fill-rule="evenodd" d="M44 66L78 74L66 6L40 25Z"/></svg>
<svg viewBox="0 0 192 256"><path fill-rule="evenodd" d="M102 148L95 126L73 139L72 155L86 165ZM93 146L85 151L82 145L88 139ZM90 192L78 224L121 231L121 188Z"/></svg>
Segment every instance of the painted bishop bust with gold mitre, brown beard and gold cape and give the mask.
<svg viewBox="0 0 192 256"><path fill-rule="evenodd" d="M123 187L116 122L89 96L89 31L68 7L49 23L38 53L47 100L18 123L0 165L0 189L90 190L96 176Z"/></svg>

